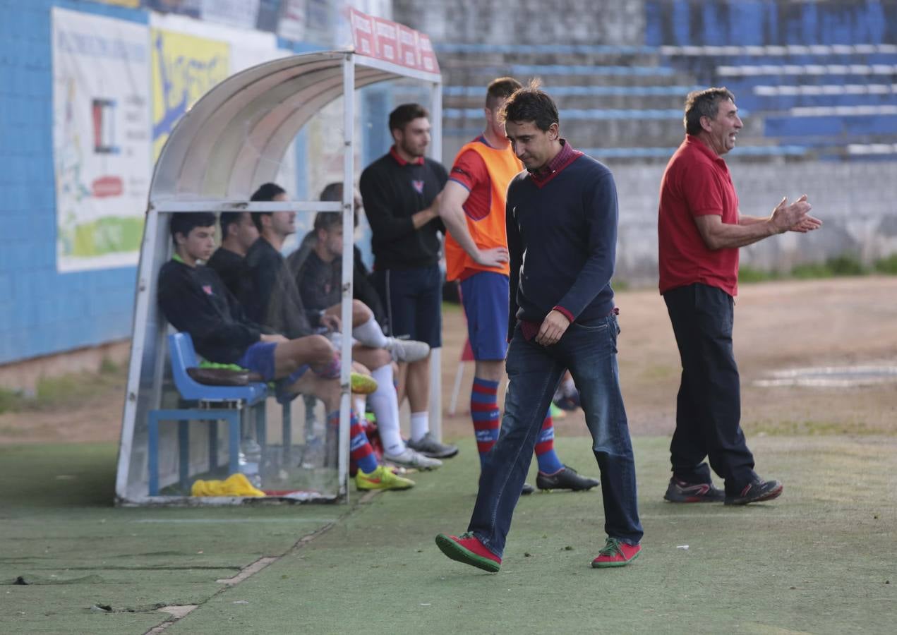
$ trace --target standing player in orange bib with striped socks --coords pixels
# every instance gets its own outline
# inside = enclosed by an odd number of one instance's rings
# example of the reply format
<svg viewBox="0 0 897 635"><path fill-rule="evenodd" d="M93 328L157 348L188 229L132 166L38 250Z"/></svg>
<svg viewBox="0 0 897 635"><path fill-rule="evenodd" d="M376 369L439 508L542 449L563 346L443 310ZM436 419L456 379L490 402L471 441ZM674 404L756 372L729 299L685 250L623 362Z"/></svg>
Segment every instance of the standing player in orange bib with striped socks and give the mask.
<svg viewBox="0 0 897 635"><path fill-rule="evenodd" d="M440 216L448 228L445 255L448 280L461 283L467 336L475 359L470 413L481 465L499 438L498 387L508 349L509 258L505 230L508 184L523 164L510 148L498 113L520 83L511 77L493 80L486 90L483 134L462 146L442 191ZM546 413L536 442L542 490L589 490L597 479L563 465L554 452L554 427ZM524 484L523 493L533 487Z"/></svg>

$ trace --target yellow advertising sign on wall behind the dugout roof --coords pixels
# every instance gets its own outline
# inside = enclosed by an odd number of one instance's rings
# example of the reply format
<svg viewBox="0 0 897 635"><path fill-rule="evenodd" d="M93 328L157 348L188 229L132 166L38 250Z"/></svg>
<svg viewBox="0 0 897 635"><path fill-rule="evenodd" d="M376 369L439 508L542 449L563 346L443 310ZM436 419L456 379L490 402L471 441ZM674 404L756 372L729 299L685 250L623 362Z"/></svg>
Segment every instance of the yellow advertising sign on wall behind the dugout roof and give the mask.
<svg viewBox="0 0 897 635"><path fill-rule="evenodd" d="M230 45L152 29L152 158L179 118L231 74Z"/></svg>

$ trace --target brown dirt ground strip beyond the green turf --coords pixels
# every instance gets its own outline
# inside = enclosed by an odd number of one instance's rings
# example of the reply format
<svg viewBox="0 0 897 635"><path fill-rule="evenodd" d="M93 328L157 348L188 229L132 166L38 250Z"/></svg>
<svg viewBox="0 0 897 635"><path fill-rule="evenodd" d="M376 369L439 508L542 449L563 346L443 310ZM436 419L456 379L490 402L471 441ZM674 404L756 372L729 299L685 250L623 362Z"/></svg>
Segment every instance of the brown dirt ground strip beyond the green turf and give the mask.
<svg viewBox="0 0 897 635"><path fill-rule="evenodd" d="M633 434L672 433L679 359L666 307L657 291L617 294L619 361ZM897 365L897 277L861 277L744 285L736 300L736 360L742 416L752 434L893 434L897 384L863 387L758 387L773 370L815 366ZM444 314L442 395L451 396L466 329L460 310ZM443 433L471 433L473 364L467 363L457 413ZM125 378L70 404L0 415L0 443L116 440ZM581 413L555 422L560 434L585 431Z"/></svg>

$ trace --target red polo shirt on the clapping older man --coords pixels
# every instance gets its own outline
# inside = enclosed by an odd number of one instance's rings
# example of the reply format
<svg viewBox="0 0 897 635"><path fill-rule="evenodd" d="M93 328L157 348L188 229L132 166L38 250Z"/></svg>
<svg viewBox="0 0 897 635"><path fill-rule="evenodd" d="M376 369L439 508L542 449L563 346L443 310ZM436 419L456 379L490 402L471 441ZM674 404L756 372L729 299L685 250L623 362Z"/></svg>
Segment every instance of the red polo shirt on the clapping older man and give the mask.
<svg viewBox="0 0 897 635"><path fill-rule="evenodd" d="M666 164L660 181L658 266L660 292L693 283L707 284L735 296L738 248L710 250L695 216L717 214L738 224L738 196L726 161L696 136L685 140Z"/></svg>

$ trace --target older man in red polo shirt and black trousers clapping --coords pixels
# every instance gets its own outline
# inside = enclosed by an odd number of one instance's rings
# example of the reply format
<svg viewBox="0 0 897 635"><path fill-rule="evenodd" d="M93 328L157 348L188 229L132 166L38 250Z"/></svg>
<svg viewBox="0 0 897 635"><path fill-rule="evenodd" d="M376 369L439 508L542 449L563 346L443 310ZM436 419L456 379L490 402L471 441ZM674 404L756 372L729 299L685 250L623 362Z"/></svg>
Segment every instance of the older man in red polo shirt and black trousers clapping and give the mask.
<svg viewBox="0 0 897 635"><path fill-rule="evenodd" d="M782 484L753 471L739 423L740 384L732 352L738 248L785 231L812 231L822 222L808 215L806 195L791 204L783 197L769 216L739 212L722 159L743 126L730 91L690 93L684 126L685 140L660 182L658 213L660 293L683 368L670 444L673 477L664 498L727 505L771 500L781 494ZM725 480L725 491L713 486L705 458Z"/></svg>

